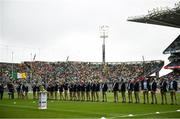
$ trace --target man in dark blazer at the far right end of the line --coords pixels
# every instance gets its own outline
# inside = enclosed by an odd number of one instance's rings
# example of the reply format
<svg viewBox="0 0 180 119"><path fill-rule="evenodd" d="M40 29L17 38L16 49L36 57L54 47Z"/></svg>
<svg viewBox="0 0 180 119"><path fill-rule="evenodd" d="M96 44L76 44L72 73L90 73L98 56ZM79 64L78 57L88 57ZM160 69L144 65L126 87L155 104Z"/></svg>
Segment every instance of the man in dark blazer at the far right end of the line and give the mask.
<svg viewBox="0 0 180 119"><path fill-rule="evenodd" d="M169 91L171 96L171 105L174 104L174 100L175 103L177 104L177 99L176 99L177 81L173 77L170 78Z"/></svg>

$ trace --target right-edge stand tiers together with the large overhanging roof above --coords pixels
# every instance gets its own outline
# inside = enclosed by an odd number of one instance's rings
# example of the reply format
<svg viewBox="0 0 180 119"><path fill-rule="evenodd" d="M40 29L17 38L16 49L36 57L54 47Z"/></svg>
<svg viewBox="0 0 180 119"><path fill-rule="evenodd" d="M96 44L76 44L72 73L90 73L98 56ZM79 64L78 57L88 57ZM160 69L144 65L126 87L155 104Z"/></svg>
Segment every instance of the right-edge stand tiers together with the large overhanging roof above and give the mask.
<svg viewBox="0 0 180 119"><path fill-rule="evenodd" d="M147 15L129 17L128 21L180 28L180 2L177 2L174 8L156 8L148 11ZM180 79L180 35L164 50L163 54L170 54L168 58L170 63L164 68L173 71L162 77Z"/></svg>

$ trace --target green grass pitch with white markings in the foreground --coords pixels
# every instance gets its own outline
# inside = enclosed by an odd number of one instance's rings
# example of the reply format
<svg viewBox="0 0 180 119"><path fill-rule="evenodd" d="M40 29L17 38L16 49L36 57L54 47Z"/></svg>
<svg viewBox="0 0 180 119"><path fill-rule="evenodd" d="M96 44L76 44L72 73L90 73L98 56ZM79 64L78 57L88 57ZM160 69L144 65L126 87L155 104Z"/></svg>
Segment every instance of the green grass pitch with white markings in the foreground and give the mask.
<svg viewBox="0 0 180 119"><path fill-rule="evenodd" d="M178 105L170 105L169 94L169 104L162 105L159 94L158 104L143 104L142 97L140 104L129 104L121 103L120 94L119 103L114 103L112 93L108 93L108 102L48 100L46 110L38 109L38 100L32 100L29 95L28 100L9 100L5 93L0 100L0 118L180 118L180 94L177 95Z"/></svg>

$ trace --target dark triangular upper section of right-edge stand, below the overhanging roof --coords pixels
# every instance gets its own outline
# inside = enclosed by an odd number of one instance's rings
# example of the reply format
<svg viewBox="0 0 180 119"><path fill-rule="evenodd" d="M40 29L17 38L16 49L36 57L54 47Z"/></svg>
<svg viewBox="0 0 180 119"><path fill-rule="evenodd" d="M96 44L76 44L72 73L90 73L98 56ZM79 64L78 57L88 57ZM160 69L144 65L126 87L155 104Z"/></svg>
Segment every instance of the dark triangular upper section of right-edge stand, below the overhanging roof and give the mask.
<svg viewBox="0 0 180 119"><path fill-rule="evenodd" d="M163 53L180 53L180 35L163 51Z"/></svg>

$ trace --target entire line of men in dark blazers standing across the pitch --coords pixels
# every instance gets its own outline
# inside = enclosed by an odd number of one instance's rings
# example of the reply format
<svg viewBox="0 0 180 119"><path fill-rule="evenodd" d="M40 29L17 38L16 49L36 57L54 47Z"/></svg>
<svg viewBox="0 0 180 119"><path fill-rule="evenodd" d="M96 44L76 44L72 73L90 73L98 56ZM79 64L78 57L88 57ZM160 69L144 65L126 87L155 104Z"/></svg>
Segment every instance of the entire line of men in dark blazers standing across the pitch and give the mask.
<svg viewBox="0 0 180 119"><path fill-rule="evenodd" d="M109 84L106 81L49 81L47 85L41 84L48 92L48 99L72 100L72 101L100 101L100 92L102 101L107 102L107 91ZM9 84L9 92L12 92L14 99L13 84ZM126 92L129 103L140 103L140 91L143 93L143 103L149 103L149 94L151 95L151 104L157 104L157 90L160 89L162 104L167 104L167 92L170 92L171 104L177 104L176 91L178 90L177 81L171 77L169 80L155 78L145 78L144 80L114 80L112 83L112 91L114 94L114 102L119 102L118 94L121 92L122 103L126 102ZM28 87L23 83L17 85L18 98L26 98L28 96ZM40 84L33 83L33 99L38 98ZM4 84L0 84L0 99L3 98ZM23 93L25 92L25 93ZM11 94L12 94L11 93ZM133 98L134 94L134 98ZM23 97L22 97L23 96ZM135 99L135 101L133 100Z"/></svg>

